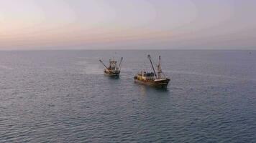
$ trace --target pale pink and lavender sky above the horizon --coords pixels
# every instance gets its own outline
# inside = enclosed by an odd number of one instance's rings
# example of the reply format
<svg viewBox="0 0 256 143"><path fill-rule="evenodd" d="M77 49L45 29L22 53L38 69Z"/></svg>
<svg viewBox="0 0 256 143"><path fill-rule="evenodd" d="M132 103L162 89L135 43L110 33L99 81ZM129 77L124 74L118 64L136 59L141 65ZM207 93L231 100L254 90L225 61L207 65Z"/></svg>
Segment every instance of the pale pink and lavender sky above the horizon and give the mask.
<svg viewBox="0 0 256 143"><path fill-rule="evenodd" d="M256 49L256 0L0 0L0 50Z"/></svg>

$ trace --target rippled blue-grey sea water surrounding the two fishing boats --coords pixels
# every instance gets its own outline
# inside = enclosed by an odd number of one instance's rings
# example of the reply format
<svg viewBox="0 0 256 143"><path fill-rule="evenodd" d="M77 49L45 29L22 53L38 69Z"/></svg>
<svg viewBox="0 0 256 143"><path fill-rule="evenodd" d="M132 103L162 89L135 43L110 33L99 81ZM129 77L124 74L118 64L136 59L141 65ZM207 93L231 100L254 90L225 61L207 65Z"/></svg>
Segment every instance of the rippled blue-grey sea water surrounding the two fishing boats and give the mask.
<svg viewBox="0 0 256 143"><path fill-rule="evenodd" d="M167 89L133 82L147 54ZM0 51L0 91L0 142L256 142L256 51Z"/></svg>

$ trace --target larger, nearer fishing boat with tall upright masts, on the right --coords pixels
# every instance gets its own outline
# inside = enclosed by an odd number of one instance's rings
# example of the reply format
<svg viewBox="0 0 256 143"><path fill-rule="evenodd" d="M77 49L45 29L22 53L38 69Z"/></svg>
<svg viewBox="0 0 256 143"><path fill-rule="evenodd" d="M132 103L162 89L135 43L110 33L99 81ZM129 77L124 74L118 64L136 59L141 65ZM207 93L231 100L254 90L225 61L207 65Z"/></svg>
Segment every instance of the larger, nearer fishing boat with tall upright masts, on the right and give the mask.
<svg viewBox="0 0 256 143"><path fill-rule="evenodd" d="M142 70L134 77L134 82L154 87L167 87L170 79L165 77L165 74L163 74L161 69L161 56L159 56L159 63L156 65L157 72L155 71L155 67L152 64L151 56L148 55L147 57L150 59L150 64L154 72L147 72L146 70Z"/></svg>

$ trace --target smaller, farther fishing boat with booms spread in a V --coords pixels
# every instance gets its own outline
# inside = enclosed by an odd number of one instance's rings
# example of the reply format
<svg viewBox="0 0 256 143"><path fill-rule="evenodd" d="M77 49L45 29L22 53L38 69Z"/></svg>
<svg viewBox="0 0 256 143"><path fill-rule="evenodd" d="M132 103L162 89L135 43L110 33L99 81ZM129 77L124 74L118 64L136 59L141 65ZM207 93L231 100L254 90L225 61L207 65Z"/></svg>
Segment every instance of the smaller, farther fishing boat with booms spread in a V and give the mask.
<svg viewBox="0 0 256 143"><path fill-rule="evenodd" d="M119 62L119 66L117 66L117 61L113 59L109 59L109 66L106 66L104 62L100 59L99 61L101 64L105 66L104 74L110 76L110 77L119 77L120 71L121 71L121 63L122 63L123 57L121 58Z"/></svg>

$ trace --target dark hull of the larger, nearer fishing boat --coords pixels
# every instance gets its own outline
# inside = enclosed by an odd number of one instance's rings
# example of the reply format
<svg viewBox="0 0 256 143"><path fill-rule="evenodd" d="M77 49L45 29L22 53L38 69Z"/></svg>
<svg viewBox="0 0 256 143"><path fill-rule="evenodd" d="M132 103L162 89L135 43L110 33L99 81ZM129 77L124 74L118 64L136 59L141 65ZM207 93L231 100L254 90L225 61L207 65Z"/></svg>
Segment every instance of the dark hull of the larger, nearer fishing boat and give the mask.
<svg viewBox="0 0 256 143"><path fill-rule="evenodd" d="M134 77L134 82L137 82L139 84L149 85L152 87L167 87L168 83L170 82L170 79L144 81L144 80L138 79L137 77Z"/></svg>

